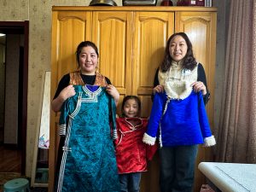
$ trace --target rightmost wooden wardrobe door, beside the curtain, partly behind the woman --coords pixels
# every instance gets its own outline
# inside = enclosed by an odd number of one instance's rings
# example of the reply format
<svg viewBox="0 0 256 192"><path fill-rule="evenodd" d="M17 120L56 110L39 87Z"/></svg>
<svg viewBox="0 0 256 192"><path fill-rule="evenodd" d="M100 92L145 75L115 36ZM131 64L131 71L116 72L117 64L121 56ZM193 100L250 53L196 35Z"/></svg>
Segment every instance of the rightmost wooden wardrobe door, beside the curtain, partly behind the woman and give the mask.
<svg viewBox="0 0 256 192"><path fill-rule="evenodd" d="M177 12L175 32L186 32L193 45L197 61L203 65L211 99L207 103L207 116L213 128L214 115L214 74L216 49L216 12ZM195 165L195 191L199 191L204 177L197 166L201 161L212 160L212 148L199 148Z"/></svg>

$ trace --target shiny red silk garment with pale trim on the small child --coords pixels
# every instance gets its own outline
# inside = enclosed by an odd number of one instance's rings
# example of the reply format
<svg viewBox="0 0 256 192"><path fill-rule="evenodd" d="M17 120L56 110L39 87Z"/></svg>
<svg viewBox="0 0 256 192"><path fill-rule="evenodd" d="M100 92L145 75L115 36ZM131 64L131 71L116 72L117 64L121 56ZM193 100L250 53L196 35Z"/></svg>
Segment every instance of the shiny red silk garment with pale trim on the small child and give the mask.
<svg viewBox="0 0 256 192"><path fill-rule="evenodd" d="M157 146L143 143L143 134L147 131L148 119L117 118L118 139L116 160L119 174L146 172L147 160L152 160Z"/></svg>

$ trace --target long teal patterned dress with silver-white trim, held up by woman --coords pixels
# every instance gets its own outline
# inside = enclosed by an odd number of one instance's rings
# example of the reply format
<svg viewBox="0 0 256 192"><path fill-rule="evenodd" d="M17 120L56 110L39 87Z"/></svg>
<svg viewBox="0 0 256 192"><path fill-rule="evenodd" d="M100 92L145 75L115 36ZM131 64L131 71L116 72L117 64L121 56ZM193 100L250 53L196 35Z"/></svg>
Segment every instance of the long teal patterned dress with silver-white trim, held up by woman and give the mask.
<svg viewBox="0 0 256 192"><path fill-rule="evenodd" d="M59 134L65 137L65 143L57 191L119 191L112 140L117 137L113 97L98 85L74 88L76 95L61 108Z"/></svg>

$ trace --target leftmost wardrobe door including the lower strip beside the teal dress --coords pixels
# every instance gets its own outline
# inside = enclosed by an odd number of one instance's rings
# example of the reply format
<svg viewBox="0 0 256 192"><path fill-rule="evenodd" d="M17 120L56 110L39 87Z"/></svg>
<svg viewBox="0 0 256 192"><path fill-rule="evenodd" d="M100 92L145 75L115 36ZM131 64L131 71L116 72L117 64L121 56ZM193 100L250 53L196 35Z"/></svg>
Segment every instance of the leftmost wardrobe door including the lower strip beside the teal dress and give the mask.
<svg viewBox="0 0 256 192"><path fill-rule="evenodd" d="M51 44L51 98L61 77L78 68L75 52L80 42L91 39L91 12L53 11ZM50 113L49 191L53 191L58 146L59 113Z"/></svg>

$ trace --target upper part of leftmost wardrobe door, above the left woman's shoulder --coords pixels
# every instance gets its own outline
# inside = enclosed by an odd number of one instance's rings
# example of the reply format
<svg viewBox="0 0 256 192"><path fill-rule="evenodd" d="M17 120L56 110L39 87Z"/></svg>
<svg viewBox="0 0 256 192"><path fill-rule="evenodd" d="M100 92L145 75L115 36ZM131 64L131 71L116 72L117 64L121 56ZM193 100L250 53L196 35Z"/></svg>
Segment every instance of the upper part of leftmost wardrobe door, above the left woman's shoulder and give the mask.
<svg viewBox="0 0 256 192"><path fill-rule="evenodd" d="M57 72L54 76L56 84L64 74L78 68L74 55L78 44L90 39L90 20L91 12L53 13L52 36L55 41L52 42L52 67Z"/></svg>

